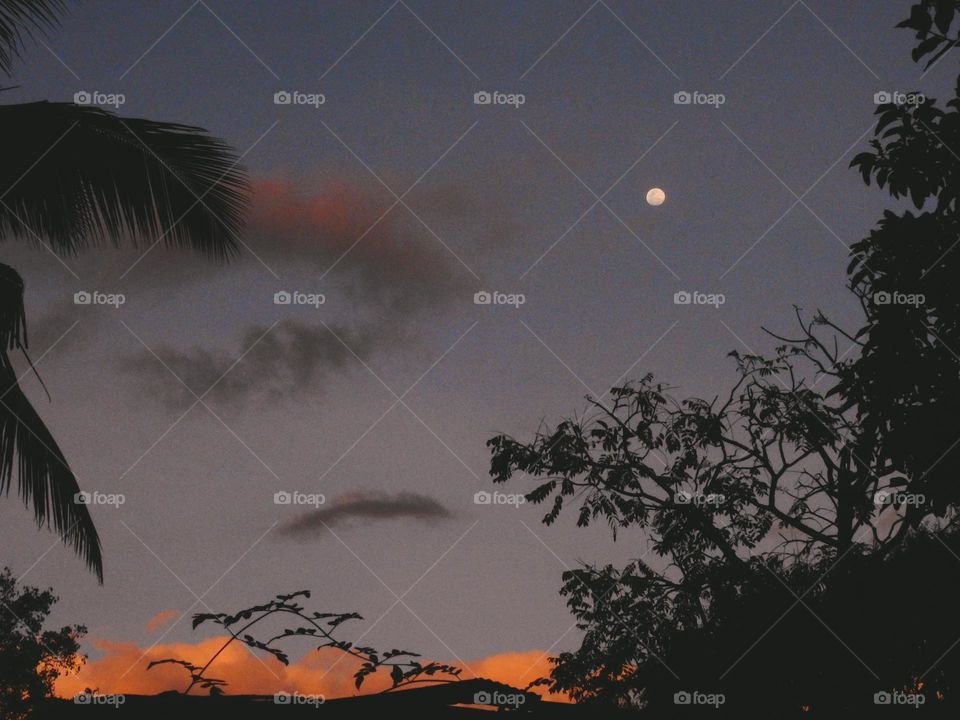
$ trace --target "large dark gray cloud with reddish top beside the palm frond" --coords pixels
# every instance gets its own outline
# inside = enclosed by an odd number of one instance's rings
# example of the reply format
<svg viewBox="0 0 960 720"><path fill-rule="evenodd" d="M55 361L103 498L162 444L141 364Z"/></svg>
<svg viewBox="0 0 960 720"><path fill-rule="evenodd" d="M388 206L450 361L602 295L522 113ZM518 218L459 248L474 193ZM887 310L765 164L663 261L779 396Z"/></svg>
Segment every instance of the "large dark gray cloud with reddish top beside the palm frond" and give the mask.
<svg viewBox="0 0 960 720"><path fill-rule="evenodd" d="M257 396L278 399L316 389L357 364L351 350L365 361L379 349L395 350L410 342L404 328L411 320L442 311L458 296L472 296L473 278L428 230L402 208L383 215L392 200L378 205L346 186L306 195L285 182L258 182L254 192L251 250L280 270L323 272L333 266L316 289L349 307L349 322L330 324L341 343L319 321L282 321L217 383L210 395L218 401L239 405ZM456 189L431 198L431 206L458 217L481 209L473 195ZM141 348L121 364L155 396L179 405L193 398L164 364L201 394L268 327L248 325L228 350L154 348L161 363Z"/></svg>

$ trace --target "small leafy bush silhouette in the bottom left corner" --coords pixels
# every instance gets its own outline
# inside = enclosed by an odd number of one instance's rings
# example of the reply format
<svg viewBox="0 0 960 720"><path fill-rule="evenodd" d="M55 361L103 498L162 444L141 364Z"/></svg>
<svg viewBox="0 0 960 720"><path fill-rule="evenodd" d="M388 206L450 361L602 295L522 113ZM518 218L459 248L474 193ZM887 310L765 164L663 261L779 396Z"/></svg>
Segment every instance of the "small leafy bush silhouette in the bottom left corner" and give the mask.
<svg viewBox="0 0 960 720"><path fill-rule="evenodd" d="M0 717L26 717L52 694L58 677L83 664L80 639L85 627L43 627L56 602L49 588L18 585L10 568L0 572Z"/></svg>

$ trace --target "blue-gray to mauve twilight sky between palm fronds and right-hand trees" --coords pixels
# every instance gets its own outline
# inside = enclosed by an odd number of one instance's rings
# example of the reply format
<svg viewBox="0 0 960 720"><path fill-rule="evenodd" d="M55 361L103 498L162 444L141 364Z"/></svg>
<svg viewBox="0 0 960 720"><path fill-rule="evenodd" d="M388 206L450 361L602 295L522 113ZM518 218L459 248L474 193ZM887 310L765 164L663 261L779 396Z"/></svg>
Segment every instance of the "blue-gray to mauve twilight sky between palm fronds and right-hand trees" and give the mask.
<svg viewBox="0 0 960 720"><path fill-rule="evenodd" d="M950 63L921 78L910 62L894 29L908 10L77 4L4 99L122 94L122 115L231 143L254 196L227 266L143 243L62 261L0 246L26 281L52 402L32 377L26 391L81 485L125 497L92 508L102 587L13 497L0 561L53 585L55 619L91 641L195 641L184 613L311 588L317 609L364 615L375 645L467 664L576 647L560 573L622 563L644 539L475 504L485 441L580 413L625 375L712 397L726 353L769 350L761 326L792 329L793 305L856 321L845 245L885 197L847 165L873 96L953 81ZM275 104L279 91L325 102ZM675 104L679 91L724 102ZM651 187L665 204L644 201ZM525 303L477 305L481 290ZM674 304L683 290L726 301ZM78 291L125 303L76 305ZM278 291L325 302L277 305ZM326 502L308 516L278 491Z"/></svg>

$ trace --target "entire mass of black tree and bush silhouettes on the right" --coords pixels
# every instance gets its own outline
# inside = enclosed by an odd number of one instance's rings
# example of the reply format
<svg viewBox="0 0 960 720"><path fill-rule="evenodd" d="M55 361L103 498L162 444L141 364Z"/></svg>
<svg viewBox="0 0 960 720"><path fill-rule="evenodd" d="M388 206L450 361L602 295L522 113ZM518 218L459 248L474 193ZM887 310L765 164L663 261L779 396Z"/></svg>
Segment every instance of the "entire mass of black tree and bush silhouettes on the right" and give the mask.
<svg viewBox="0 0 960 720"><path fill-rule="evenodd" d="M913 6L901 27L917 31L915 60L960 42L957 10ZM488 441L494 482L534 480L526 498L548 503L545 523L574 505L580 526L649 542L622 569L564 573L584 639L554 661L552 690L655 716L683 715L673 693L695 689L724 692L740 717L876 711L885 691L949 702L960 82L945 110L923 98L877 114L851 166L923 212L886 212L851 249L859 330L797 310L793 336L770 333L772 356L731 353L737 377L713 399L676 400L647 376L530 441Z"/></svg>

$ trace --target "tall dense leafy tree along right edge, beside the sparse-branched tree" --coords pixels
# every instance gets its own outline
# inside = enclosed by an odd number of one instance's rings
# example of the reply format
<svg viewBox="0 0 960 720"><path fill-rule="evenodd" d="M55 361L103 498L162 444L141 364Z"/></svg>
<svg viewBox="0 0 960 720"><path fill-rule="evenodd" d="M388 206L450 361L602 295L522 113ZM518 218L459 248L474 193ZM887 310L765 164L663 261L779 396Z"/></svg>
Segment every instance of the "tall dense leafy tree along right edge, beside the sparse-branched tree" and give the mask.
<svg viewBox="0 0 960 720"><path fill-rule="evenodd" d="M957 44L949 38L957 12L953 2L913 6L901 27L917 31L915 60L931 56L929 67ZM921 212L885 212L852 248L850 281L866 322L836 391L856 407L881 460L912 477L928 500L908 514L906 531L928 510L942 514L960 500L960 78L943 108L923 98L877 113L871 150L853 165L867 184Z"/></svg>

